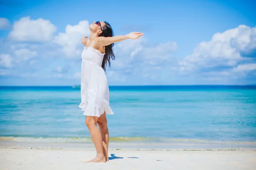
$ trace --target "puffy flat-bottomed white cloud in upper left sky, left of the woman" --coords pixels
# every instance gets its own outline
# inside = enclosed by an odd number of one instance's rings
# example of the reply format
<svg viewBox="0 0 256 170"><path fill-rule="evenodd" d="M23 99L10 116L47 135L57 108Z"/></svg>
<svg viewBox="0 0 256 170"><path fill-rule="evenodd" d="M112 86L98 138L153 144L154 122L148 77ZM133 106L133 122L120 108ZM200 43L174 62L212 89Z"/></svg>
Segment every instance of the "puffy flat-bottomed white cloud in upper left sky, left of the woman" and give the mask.
<svg viewBox="0 0 256 170"><path fill-rule="evenodd" d="M15 21L9 38L19 42L46 42L52 40L56 29L49 20L23 17Z"/></svg>

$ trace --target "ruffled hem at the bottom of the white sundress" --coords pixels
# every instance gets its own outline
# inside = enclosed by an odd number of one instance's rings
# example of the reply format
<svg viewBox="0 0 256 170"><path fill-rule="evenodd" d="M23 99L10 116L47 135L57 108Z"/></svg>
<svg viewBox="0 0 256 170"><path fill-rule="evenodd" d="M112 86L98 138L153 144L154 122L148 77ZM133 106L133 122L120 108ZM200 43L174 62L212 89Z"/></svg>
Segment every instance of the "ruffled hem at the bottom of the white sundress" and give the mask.
<svg viewBox="0 0 256 170"><path fill-rule="evenodd" d="M100 117L104 113L104 111L108 115L114 114L109 105L103 105L101 107L99 107L98 105L85 105L79 106L79 108L82 109L81 111L84 111L85 116Z"/></svg>

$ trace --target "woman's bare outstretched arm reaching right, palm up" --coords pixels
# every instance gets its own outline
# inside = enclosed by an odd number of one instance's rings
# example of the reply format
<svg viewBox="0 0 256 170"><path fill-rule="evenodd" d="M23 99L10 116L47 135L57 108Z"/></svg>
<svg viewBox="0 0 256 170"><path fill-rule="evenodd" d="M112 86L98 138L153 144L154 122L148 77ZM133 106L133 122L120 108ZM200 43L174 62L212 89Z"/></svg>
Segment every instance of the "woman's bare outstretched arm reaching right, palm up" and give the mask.
<svg viewBox="0 0 256 170"><path fill-rule="evenodd" d="M99 38L97 38L97 41L102 46L108 46L112 43L119 42L119 41L126 40L126 39L132 39L132 40L137 39L137 38L141 37L143 34L144 33L141 33L141 32L131 32L129 34L116 35L113 37L99 37Z"/></svg>

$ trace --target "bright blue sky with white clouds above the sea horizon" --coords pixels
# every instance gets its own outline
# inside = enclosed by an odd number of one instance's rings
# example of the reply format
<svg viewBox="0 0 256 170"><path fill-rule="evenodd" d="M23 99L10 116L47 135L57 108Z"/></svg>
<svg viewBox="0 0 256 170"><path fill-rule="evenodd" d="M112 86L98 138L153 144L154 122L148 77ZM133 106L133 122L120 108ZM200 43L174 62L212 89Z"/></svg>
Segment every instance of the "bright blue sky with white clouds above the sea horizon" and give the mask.
<svg viewBox="0 0 256 170"><path fill-rule="evenodd" d="M80 37L106 20L109 85L256 84L253 0L1 0L0 85L80 83Z"/></svg>

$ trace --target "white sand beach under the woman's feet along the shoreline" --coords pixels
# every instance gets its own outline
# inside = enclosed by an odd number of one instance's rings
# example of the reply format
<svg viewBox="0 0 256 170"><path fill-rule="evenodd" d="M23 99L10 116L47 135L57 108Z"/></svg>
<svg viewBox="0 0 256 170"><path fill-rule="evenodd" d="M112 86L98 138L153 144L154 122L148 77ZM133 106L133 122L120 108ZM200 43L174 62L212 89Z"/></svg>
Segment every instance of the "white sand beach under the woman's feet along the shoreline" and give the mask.
<svg viewBox="0 0 256 170"><path fill-rule="evenodd" d="M93 147L0 145L1 170L255 170L256 150L110 148L107 163L84 163Z"/></svg>

